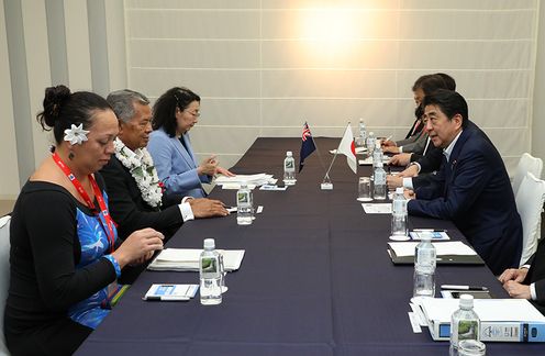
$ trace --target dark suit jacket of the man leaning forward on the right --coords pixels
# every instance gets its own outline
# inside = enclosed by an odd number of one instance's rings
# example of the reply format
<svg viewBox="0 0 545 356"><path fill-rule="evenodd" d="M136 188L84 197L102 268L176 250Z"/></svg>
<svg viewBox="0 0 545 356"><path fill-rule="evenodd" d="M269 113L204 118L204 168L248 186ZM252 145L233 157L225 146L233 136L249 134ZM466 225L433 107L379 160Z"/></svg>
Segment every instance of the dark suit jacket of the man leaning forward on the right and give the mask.
<svg viewBox="0 0 545 356"><path fill-rule="evenodd" d="M453 220L494 275L519 266L522 223L500 154L471 122L458 137L451 159L443 158L430 186L409 201L413 215Z"/></svg>

